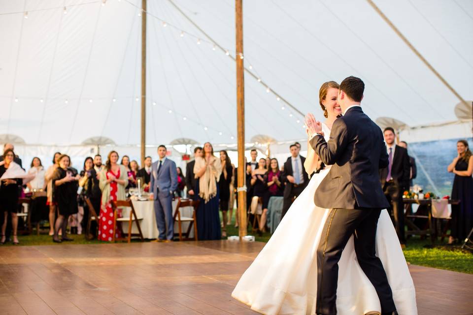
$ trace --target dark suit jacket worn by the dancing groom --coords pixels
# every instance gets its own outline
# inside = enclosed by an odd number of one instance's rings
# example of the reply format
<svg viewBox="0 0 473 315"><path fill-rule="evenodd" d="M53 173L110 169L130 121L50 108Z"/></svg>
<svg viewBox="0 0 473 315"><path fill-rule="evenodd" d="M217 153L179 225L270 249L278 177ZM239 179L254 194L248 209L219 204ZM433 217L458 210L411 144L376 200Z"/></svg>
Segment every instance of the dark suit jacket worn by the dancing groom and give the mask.
<svg viewBox="0 0 473 315"><path fill-rule="evenodd" d="M381 129L361 107L349 108L338 118L325 141L309 141L325 165L333 165L315 191L314 202L326 209L389 207L379 181L379 169L388 165Z"/></svg>

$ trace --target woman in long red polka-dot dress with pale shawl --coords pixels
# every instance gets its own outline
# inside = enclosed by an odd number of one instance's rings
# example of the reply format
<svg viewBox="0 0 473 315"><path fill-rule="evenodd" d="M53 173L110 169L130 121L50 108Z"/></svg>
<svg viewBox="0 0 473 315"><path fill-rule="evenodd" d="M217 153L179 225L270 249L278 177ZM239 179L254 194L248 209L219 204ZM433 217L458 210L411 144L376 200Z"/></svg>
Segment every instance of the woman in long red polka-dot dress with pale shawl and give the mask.
<svg viewBox="0 0 473 315"><path fill-rule="evenodd" d="M111 201L126 200L125 187L128 185L128 177L125 167L117 164L118 153L111 151L105 167L100 173L100 189L102 191L100 207L100 224L98 239L110 242L113 239L113 209ZM121 217L121 209L118 209L117 217ZM120 232L115 231L115 237L120 237Z"/></svg>

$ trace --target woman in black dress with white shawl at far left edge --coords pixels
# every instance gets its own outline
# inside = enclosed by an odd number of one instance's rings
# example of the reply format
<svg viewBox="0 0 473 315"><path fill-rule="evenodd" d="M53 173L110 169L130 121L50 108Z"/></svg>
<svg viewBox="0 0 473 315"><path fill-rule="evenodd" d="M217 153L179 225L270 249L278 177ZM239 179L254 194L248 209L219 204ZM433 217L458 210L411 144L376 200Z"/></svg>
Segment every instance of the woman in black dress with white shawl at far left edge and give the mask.
<svg viewBox="0 0 473 315"><path fill-rule="evenodd" d="M0 177L6 172L8 167L10 167L15 154L13 150L7 149L3 152L3 160L5 163L0 165ZM8 213L11 213L11 226L13 229L13 245L18 245L18 237L16 235L18 228L18 217L16 212L18 209L18 198L19 190L18 186L21 186L21 179L4 179L1 181L0 186L0 210L3 212L3 224L1 226L1 241L0 244L5 244L5 230L6 223L8 220Z"/></svg>

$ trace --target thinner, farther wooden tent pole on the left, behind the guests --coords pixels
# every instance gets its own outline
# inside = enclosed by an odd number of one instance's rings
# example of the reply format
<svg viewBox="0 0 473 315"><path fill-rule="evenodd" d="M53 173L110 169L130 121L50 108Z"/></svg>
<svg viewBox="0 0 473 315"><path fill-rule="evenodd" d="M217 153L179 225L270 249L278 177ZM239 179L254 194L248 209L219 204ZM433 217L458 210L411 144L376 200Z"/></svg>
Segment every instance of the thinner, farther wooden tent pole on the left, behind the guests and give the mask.
<svg viewBox="0 0 473 315"><path fill-rule="evenodd" d="M141 0L141 165L146 155L146 0Z"/></svg>

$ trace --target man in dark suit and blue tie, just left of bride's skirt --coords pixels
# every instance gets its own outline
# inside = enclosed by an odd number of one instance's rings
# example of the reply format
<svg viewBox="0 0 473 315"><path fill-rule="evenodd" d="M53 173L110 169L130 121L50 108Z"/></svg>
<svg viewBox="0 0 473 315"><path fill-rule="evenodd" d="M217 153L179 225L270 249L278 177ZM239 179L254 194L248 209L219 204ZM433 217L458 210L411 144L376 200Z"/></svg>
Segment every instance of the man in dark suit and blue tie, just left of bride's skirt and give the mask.
<svg viewBox="0 0 473 315"><path fill-rule="evenodd" d="M305 158L299 155L299 148L292 144L289 149L291 156L284 163L281 173L281 183L285 183L284 199L281 212L281 220L292 205L294 197L298 197L309 182L309 177L305 172Z"/></svg>

